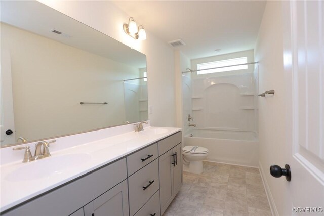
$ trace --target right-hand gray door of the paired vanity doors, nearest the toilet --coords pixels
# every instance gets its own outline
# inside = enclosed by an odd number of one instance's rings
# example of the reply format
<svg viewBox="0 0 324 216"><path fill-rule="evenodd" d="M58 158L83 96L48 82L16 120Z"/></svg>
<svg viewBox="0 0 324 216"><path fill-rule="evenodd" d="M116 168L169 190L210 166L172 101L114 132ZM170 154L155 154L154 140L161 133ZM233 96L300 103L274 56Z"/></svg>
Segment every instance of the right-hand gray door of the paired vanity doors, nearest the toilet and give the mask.
<svg viewBox="0 0 324 216"><path fill-rule="evenodd" d="M176 165L172 166L174 196L176 196L182 186L182 144L178 144L172 150L176 157L175 160L177 161Z"/></svg>

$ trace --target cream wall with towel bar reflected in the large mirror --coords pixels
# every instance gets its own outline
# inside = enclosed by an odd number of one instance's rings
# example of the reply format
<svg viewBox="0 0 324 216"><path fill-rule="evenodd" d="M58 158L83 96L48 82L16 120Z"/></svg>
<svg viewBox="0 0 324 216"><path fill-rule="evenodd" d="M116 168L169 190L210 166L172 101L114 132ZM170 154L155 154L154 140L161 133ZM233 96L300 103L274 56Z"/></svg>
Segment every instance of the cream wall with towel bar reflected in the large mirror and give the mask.
<svg viewBox="0 0 324 216"><path fill-rule="evenodd" d="M139 68L4 23L1 31L2 50L11 55L16 137L31 141L134 122L125 118L121 80L139 76Z"/></svg>

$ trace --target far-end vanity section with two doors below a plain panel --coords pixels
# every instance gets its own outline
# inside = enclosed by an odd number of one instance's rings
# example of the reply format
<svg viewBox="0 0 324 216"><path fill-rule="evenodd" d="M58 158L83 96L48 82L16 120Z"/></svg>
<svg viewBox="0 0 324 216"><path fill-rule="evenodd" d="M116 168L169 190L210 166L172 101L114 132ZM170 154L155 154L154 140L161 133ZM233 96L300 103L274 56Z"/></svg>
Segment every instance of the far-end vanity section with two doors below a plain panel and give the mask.
<svg viewBox="0 0 324 216"><path fill-rule="evenodd" d="M160 206L161 214L165 212L182 186L182 143L181 132L158 142L158 145L171 147L159 156ZM160 149L160 147L159 147ZM160 154L160 152L159 152Z"/></svg>

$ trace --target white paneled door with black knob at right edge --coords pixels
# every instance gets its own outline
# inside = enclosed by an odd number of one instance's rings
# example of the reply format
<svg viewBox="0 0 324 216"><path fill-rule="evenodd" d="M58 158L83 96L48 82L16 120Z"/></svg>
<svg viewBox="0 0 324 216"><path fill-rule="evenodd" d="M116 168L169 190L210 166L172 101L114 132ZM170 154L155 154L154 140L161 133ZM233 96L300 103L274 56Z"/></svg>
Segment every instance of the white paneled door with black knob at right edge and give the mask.
<svg viewBox="0 0 324 216"><path fill-rule="evenodd" d="M284 11L291 15L285 25L284 62L289 96L287 163L292 174L286 212L323 215L324 2L285 2Z"/></svg>

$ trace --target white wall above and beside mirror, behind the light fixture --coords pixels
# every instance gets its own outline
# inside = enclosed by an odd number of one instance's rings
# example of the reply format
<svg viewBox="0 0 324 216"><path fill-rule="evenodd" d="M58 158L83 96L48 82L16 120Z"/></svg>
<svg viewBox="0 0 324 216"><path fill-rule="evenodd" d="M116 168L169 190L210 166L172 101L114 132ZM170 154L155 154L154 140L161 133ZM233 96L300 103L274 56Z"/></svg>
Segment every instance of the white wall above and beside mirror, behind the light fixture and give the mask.
<svg viewBox="0 0 324 216"><path fill-rule="evenodd" d="M176 126L174 51L145 29L147 39L138 41L125 34L128 15L109 1L42 2L146 55L148 105L153 107L149 120L153 126ZM136 17L134 17L136 20ZM140 23L144 24L144 23ZM145 24L144 24L145 26Z"/></svg>

